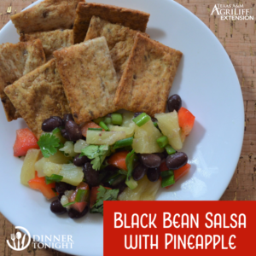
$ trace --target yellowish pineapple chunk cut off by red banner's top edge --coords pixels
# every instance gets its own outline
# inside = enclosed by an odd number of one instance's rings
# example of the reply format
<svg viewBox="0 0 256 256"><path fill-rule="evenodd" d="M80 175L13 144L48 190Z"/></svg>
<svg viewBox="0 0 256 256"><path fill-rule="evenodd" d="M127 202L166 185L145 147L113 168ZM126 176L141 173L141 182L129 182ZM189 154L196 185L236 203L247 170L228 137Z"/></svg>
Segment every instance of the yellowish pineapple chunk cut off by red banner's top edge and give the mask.
<svg viewBox="0 0 256 256"><path fill-rule="evenodd" d="M158 189L160 189L160 180L152 183L144 176L138 181L136 189L126 188L123 193L119 195L120 201L154 201Z"/></svg>

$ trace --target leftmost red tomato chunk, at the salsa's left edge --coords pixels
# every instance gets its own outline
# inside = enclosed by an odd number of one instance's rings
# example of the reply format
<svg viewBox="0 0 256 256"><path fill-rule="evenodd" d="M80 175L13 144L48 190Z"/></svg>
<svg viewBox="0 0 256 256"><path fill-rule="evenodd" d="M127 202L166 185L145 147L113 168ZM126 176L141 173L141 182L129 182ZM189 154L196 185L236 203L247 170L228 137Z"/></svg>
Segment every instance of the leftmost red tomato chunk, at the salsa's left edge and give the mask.
<svg viewBox="0 0 256 256"><path fill-rule="evenodd" d="M16 131L16 140L14 145L14 155L23 156L30 148L39 148L38 139L33 135L32 131L20 129Z"/></svg>

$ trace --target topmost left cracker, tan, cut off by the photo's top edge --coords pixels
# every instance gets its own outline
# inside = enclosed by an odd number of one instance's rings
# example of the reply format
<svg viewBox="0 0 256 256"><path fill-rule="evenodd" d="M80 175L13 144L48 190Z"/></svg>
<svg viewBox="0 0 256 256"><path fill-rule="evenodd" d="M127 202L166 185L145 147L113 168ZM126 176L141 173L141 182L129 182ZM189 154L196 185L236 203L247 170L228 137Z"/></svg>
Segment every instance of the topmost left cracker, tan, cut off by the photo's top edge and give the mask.
<svg viewBox="0 0 256 256"><path fill-rule="evenodd" d="M11 20L20 34L71 29L79 2L84 0L44 0L30 9L12 15Z"/></svg>

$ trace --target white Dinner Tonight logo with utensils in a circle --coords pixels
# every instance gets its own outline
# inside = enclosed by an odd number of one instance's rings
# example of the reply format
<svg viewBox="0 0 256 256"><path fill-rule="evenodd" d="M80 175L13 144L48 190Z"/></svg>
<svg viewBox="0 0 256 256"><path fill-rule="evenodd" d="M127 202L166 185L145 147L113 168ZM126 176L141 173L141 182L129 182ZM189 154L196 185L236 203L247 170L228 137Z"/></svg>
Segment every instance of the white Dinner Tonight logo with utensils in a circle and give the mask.
<svg viewBox="0 0 256 256"><path fill-rule="evenodd" d="M15 230L21 230L26 232L26 234L20 233L18 231L16 234L11 234L10 238L11 241L7 240L8 246L15 250L15 251L22 251L25 250L26 247L30 245L31 239L32 241L32 247L33 248L38 248L38 249L43 249L43 248L51 248L51 249L72 249L73 248L73 239L71 235L49 235L49 236L38 236L38 235L33 235L31 236L29 231L26 230L23 227L16 226ZM27 241L25 244L27 236Z"/></svg>

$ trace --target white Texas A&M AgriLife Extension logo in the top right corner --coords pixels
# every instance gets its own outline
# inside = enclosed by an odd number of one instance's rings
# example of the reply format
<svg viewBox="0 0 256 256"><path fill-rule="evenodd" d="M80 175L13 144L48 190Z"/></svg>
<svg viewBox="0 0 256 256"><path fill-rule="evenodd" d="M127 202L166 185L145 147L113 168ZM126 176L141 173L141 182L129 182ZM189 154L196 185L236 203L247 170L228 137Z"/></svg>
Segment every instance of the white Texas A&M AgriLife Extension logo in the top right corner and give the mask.
<svg viewBox="0 0 256 256"><path fill-rule="evenodd" d="M244 9L243 4L215 4L211 15L220 16L220 20L254 20L250 9Z"/></svg>

